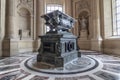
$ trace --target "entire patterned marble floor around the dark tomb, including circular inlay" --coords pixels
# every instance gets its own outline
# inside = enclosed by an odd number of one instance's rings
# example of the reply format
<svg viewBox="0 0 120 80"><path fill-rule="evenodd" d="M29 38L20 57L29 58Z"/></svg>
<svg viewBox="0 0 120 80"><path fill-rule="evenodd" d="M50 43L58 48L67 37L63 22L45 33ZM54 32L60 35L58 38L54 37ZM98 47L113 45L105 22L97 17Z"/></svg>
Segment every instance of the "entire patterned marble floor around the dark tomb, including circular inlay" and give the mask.
<svg viewBox="0 0 120 80"><path fill-rule="evenodd" d="M1 58L0 80L120 80L120 57L116 55L92 54L92 51L89 55L87 51L81 58L65 64L64 68L47 70L35 65L35 56L25 53Z"/></svg>

